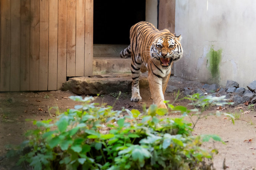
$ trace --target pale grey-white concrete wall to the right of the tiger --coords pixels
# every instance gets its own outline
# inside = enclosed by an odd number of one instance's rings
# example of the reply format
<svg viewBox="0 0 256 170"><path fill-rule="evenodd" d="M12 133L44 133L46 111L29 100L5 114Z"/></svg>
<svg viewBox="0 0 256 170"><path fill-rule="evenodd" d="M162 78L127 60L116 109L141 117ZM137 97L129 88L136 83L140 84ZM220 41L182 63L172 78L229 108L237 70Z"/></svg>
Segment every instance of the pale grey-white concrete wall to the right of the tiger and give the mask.
<svg viewBox="0 0 256 170"><path fill-rule="evenodd" d="M219 84L256 80L256 0L176 0L175 33L184 56L175 75L211 82L207 53L222 50Z"/></svg>

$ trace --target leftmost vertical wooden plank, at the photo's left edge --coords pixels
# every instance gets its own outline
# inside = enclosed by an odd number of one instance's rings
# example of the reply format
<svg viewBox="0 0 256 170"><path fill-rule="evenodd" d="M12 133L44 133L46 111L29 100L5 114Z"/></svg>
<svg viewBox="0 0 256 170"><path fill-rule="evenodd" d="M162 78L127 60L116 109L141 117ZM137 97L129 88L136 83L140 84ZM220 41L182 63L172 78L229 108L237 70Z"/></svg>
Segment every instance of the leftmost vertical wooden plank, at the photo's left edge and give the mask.
<svg viewBox="0 0 256 170"><path fill-rule="evenodd" d="M1 0L0 91L10 90L11 0Z"/></svg>

